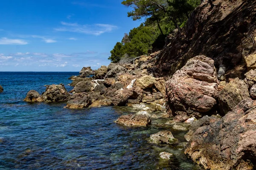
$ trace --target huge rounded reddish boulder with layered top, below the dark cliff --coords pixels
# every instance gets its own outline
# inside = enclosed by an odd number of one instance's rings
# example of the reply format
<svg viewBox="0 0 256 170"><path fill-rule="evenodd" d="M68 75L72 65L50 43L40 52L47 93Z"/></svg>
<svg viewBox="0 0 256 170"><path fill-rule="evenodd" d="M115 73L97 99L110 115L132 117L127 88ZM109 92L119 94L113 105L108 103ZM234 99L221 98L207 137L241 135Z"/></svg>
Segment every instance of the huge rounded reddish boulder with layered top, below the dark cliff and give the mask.
<svg viewBox="0 0 256 170"><path fill-rule="evenodd" d="M205 56L196 56L178 70L166 82L167 109L177 115L177 111L188 114L205 113L216 105L212 97L218 86L214 61Z"/></svg>

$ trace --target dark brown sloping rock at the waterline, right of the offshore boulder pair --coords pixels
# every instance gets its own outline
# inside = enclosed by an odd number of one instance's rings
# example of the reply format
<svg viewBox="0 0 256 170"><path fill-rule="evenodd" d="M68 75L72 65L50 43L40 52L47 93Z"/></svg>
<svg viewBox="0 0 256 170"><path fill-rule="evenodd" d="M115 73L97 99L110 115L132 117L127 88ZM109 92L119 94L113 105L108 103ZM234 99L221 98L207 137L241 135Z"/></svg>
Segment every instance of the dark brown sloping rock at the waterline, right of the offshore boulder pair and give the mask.
<svg viewBox="0 0 256 170"><path fill-rule="evenodd" d="M65 108L87 108L89 105L91 105L91 103L92 101L87 93L76 93L70 97L70 100L67 102L67 106Z"/></svg>

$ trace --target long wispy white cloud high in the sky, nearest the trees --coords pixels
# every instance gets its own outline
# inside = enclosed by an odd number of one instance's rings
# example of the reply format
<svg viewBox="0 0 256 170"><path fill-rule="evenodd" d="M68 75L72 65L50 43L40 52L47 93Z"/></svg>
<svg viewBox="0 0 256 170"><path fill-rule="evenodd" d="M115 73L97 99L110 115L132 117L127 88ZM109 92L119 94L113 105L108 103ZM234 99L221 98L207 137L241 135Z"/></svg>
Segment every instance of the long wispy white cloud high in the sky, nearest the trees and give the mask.
<svg viewBox="0 0 256 170"><path fill-rule="evenodd" d="M61 22L61 24L66 27L55 28L56 31L76 32L90 35L101 35L106 32L111 32L117 28L117 26L110 24L79 25L77 23L65 22Z"/></svg>

